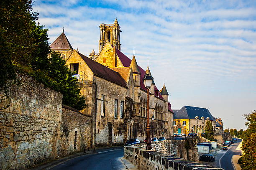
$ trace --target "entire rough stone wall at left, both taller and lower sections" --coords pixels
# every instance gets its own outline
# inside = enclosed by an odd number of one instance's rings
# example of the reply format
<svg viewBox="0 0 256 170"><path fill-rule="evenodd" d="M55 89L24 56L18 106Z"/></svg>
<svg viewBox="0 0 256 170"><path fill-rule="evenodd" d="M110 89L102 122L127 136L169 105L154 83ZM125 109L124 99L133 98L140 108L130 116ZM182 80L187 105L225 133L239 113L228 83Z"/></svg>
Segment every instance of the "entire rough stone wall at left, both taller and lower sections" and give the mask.
<svg viewBox="0 0 256 170"><path fill-rule="evenodd" d="M90 117L62 109L62 94L30 76L18 79L8 91L10 106L0 111L0 169L27 169L91 145ZM75 128L77 149L72 150Z"/></svg>

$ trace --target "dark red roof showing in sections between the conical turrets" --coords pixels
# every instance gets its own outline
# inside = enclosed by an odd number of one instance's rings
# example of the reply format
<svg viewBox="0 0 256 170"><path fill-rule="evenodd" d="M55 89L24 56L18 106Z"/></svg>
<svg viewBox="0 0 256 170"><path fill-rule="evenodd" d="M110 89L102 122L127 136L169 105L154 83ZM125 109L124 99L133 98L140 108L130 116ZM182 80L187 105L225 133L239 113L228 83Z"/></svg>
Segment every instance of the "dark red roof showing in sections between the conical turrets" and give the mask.
<svg viewBox="0 0 256 170"><path fill-rule="evenodd" d="M118 58L122 62L123 66L129 67L131 65L131 59L128 58L127 56L125 56L121 51L116 49L115 53L118 55ZM143 83L143 78L146 74L146 71L143 70L140 66L138 66L138 67L139 67L139 70L141 72L141 89L147 90L146 87L144 86L144 83ZM159 90L157 89L156 86L155 86L155 96L159 97L160 99L164 99L163 96L161 96L161 93L159 92Z"/></svg>

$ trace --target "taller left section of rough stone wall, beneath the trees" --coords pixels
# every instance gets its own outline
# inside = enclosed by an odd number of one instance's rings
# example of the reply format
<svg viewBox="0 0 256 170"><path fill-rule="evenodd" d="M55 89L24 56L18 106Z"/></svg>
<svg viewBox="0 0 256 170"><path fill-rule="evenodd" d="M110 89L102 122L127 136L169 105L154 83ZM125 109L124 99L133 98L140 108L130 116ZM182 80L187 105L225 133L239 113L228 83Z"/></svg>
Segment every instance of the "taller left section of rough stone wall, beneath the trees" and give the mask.
<svg viewBox="0 0 256 170"><path fill-rule="evenodd" d="M10 106L0 111L0 169L26 169L56 157L62 94L30 76L8 91ZM5 99L4 93L0 93ZM8 99L1 102L3 108Z"/></svg>

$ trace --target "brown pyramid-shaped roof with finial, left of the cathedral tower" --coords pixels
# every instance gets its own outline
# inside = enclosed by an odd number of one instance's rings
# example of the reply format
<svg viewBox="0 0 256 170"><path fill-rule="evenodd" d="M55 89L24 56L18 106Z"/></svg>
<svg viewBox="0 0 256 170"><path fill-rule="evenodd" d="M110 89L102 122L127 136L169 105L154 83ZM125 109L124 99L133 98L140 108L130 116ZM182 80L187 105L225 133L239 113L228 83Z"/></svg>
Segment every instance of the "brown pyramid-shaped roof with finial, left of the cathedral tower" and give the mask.
<svg viewBox="0 0 256 170"><path fill-rule="evenodd" d="M61 35L58 38L56 38L56 40L53 43L51 43L50 47L53 49L72 49L73 50L64 32L61 33Z"/></svg>

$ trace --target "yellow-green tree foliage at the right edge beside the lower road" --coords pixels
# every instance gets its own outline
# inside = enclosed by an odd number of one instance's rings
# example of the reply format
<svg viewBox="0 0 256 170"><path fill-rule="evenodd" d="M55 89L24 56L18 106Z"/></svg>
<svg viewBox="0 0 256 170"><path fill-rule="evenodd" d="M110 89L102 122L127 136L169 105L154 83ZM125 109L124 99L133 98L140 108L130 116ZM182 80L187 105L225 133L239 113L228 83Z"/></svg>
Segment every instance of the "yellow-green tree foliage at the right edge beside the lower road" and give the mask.
<svg viewBox="0 0 256 170"><path fill-rule="evenodd" d="M243 170L256 169L256 111L251 114L243 115L247 119L246 126L248 129L242 132L244 154L239 159ZM240 130L239 130L240 131Z"/></svg>

